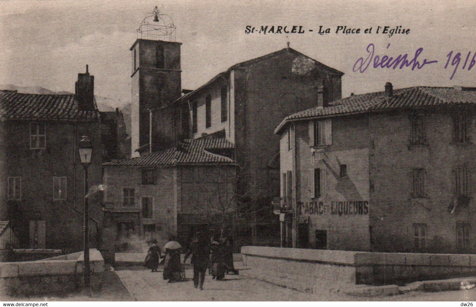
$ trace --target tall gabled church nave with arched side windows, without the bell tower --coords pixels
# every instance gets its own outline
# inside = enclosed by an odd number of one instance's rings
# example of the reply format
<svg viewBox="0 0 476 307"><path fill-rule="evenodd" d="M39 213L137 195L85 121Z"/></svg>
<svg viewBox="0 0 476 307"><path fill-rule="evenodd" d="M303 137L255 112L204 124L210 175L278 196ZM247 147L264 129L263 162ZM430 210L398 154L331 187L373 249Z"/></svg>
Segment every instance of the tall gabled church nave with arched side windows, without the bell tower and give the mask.
<svg viewBox="0 0 476 307"><path fill-rule="evenodd" d="M287 47L228 68L174 102L177 135L226 138L240 165L238 194L253 203L248 244L278 245L279 137L286 116L341 98L343 73ZM276 240L274 238L277 238Z"/></svg>

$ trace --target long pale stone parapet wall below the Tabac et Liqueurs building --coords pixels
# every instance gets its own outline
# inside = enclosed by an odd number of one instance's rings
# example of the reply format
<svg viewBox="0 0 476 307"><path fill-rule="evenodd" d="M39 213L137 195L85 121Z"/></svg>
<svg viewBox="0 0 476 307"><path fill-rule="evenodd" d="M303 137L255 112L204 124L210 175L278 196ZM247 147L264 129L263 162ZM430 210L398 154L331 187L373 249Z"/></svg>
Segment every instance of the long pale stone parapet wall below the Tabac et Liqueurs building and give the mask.
<svg viewBox="0 0 476 307"><path fill-rule="evenodd" d="M407 283L476 275L476 255L241 248L249 277L312 292L321 285Z"/></svg>

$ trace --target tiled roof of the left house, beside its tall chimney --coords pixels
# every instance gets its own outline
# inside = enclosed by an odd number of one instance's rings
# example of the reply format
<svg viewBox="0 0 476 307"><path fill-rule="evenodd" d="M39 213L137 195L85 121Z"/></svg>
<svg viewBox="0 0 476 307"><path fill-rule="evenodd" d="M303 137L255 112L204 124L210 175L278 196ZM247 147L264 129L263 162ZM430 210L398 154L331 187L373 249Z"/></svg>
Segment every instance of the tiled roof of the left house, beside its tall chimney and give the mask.
<svg viewBox="0 0 476 307"><path fill-rule="evenodd" d="M79 111L75 95L24 94L0 91L0 118L35 120L99 119L99 111Z"/></svg>

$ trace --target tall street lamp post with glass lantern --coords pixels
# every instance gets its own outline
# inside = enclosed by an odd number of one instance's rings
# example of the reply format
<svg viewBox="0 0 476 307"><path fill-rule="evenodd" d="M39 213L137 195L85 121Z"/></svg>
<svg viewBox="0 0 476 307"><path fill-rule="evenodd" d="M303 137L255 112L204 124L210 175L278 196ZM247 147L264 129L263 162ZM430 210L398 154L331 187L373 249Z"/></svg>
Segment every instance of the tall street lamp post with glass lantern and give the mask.
<svg viewBox="0 0 476 307"><path fill-rule="evenodd" d="M91 163L92 146L87 136L79 141L79 158L84 168L84 286L89 287L89 205L88 205L88 166Z"/></svg>

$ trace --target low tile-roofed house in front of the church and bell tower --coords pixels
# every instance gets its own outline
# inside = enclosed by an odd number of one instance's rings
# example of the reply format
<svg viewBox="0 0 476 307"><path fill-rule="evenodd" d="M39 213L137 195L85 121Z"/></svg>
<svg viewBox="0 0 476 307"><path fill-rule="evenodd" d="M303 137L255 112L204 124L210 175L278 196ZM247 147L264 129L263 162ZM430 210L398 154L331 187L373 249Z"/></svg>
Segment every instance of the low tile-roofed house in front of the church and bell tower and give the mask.
<svg viewBox="0 0 476 307"><path fill-rule="evenodd" d="M177 147L139 158L104 163L103 250L147 251L170 235L187 244L198 231L232 231L235 174L225 139L184 140ZM226 223L222 223L222 218Z"/></svg>

